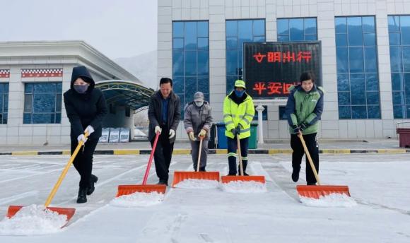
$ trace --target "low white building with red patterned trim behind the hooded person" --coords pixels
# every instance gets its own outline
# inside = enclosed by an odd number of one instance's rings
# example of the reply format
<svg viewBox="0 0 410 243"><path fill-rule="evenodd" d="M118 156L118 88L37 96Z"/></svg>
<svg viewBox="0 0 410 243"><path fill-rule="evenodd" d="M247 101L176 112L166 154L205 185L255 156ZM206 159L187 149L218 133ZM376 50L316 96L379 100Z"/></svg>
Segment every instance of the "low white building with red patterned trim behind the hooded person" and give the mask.
<svg viewBox="0 0 410 243"><path fill-rule="evenodd" d="M62 94L70 88L73 67L80 65L89 69L96 83L141 84L83 41L0 42L0 145L69 143ZM127 109L110 109L116 111L108 114L107 124L121 121L134 126L132 115L125 115Z"/></svg>

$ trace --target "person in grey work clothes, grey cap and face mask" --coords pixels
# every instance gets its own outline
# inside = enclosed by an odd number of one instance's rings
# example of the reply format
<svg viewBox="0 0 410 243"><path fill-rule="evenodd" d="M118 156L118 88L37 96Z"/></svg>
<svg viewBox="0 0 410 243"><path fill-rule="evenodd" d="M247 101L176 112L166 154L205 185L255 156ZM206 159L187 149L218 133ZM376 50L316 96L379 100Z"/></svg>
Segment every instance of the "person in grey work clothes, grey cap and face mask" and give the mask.
<svg viewBox="0 0 410 243"><path fill-rule="evenodd" d="M211 105L204 100L204 94L194 94L194 101L189 102L184 108L184 127L187 131L192 148L192 162L197 170L199 139L203 139L201 148L201 161L199 171L206 171L206 158L208 155L209 130L212 126Z"/></svg>

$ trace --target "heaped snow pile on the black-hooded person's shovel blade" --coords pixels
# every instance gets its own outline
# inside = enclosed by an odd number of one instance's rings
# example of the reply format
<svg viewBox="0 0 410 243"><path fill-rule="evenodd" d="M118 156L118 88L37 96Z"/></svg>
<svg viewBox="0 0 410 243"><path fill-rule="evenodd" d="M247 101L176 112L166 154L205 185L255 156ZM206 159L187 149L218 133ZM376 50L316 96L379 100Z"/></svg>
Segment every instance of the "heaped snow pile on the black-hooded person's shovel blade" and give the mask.
<svg viewBox="0 0 410 243"><path fill-rule="evenodd" d="M21 208L12 218L1 220L0 235L44 235L59 232L66 223L66 215L33 204Z"/></svg>

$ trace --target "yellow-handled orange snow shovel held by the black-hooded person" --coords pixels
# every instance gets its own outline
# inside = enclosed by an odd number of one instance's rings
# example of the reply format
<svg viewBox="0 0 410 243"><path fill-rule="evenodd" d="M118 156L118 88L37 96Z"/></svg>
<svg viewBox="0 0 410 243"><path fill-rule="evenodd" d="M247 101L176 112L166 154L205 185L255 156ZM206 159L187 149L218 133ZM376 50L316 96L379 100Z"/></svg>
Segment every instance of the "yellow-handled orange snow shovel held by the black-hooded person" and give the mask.
<svg viewBox="0 0 410 243"><path fill-rule="evenodd" d="M88 137L88 131L84 132L84 136L87 138ZM59 179L57 180L56 184L54 184L54 187L52 191L50 192L49 196L47 197L47 200L45 201L44 206L49 209L50 211L56 212L60 215L66 215L67 216L67 223L68 221L73 217L74 213L76 212L76 208L56 208L56 207L49 207L49 204L51 203L52 199L54 198L54 195L57 193L57 190L59 189L61 182L63 181L64 177L66 177L67 172L69 171L69 168L71 167L71 164L73 163L74 159L76 158L78 151L81 149L81 146L83 146L83 141L79 141L78 145L76 147L76 150L74 150L74 153L71 155L71 158L69 162L67 163L66 167L64 167L63 172L61 172L61 175ZM23 206L8 206L8 211L7 211L7 217L11 218L13 217ZM65 225L64 225L65 226ZM63 227L64 227L63 226Z"/></svg>

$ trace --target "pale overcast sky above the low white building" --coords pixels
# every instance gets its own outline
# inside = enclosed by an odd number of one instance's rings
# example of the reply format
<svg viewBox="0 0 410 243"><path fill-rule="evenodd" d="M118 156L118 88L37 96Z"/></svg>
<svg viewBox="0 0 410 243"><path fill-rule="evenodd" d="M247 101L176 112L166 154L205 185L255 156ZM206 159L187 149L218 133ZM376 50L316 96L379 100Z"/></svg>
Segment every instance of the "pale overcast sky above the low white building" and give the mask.
<svg viewBox="0 0 410 243"><path fill-rule="evenodd" d="M0 41L85 40L111 59L157 48L156 0L0 0Z"/></svg>

